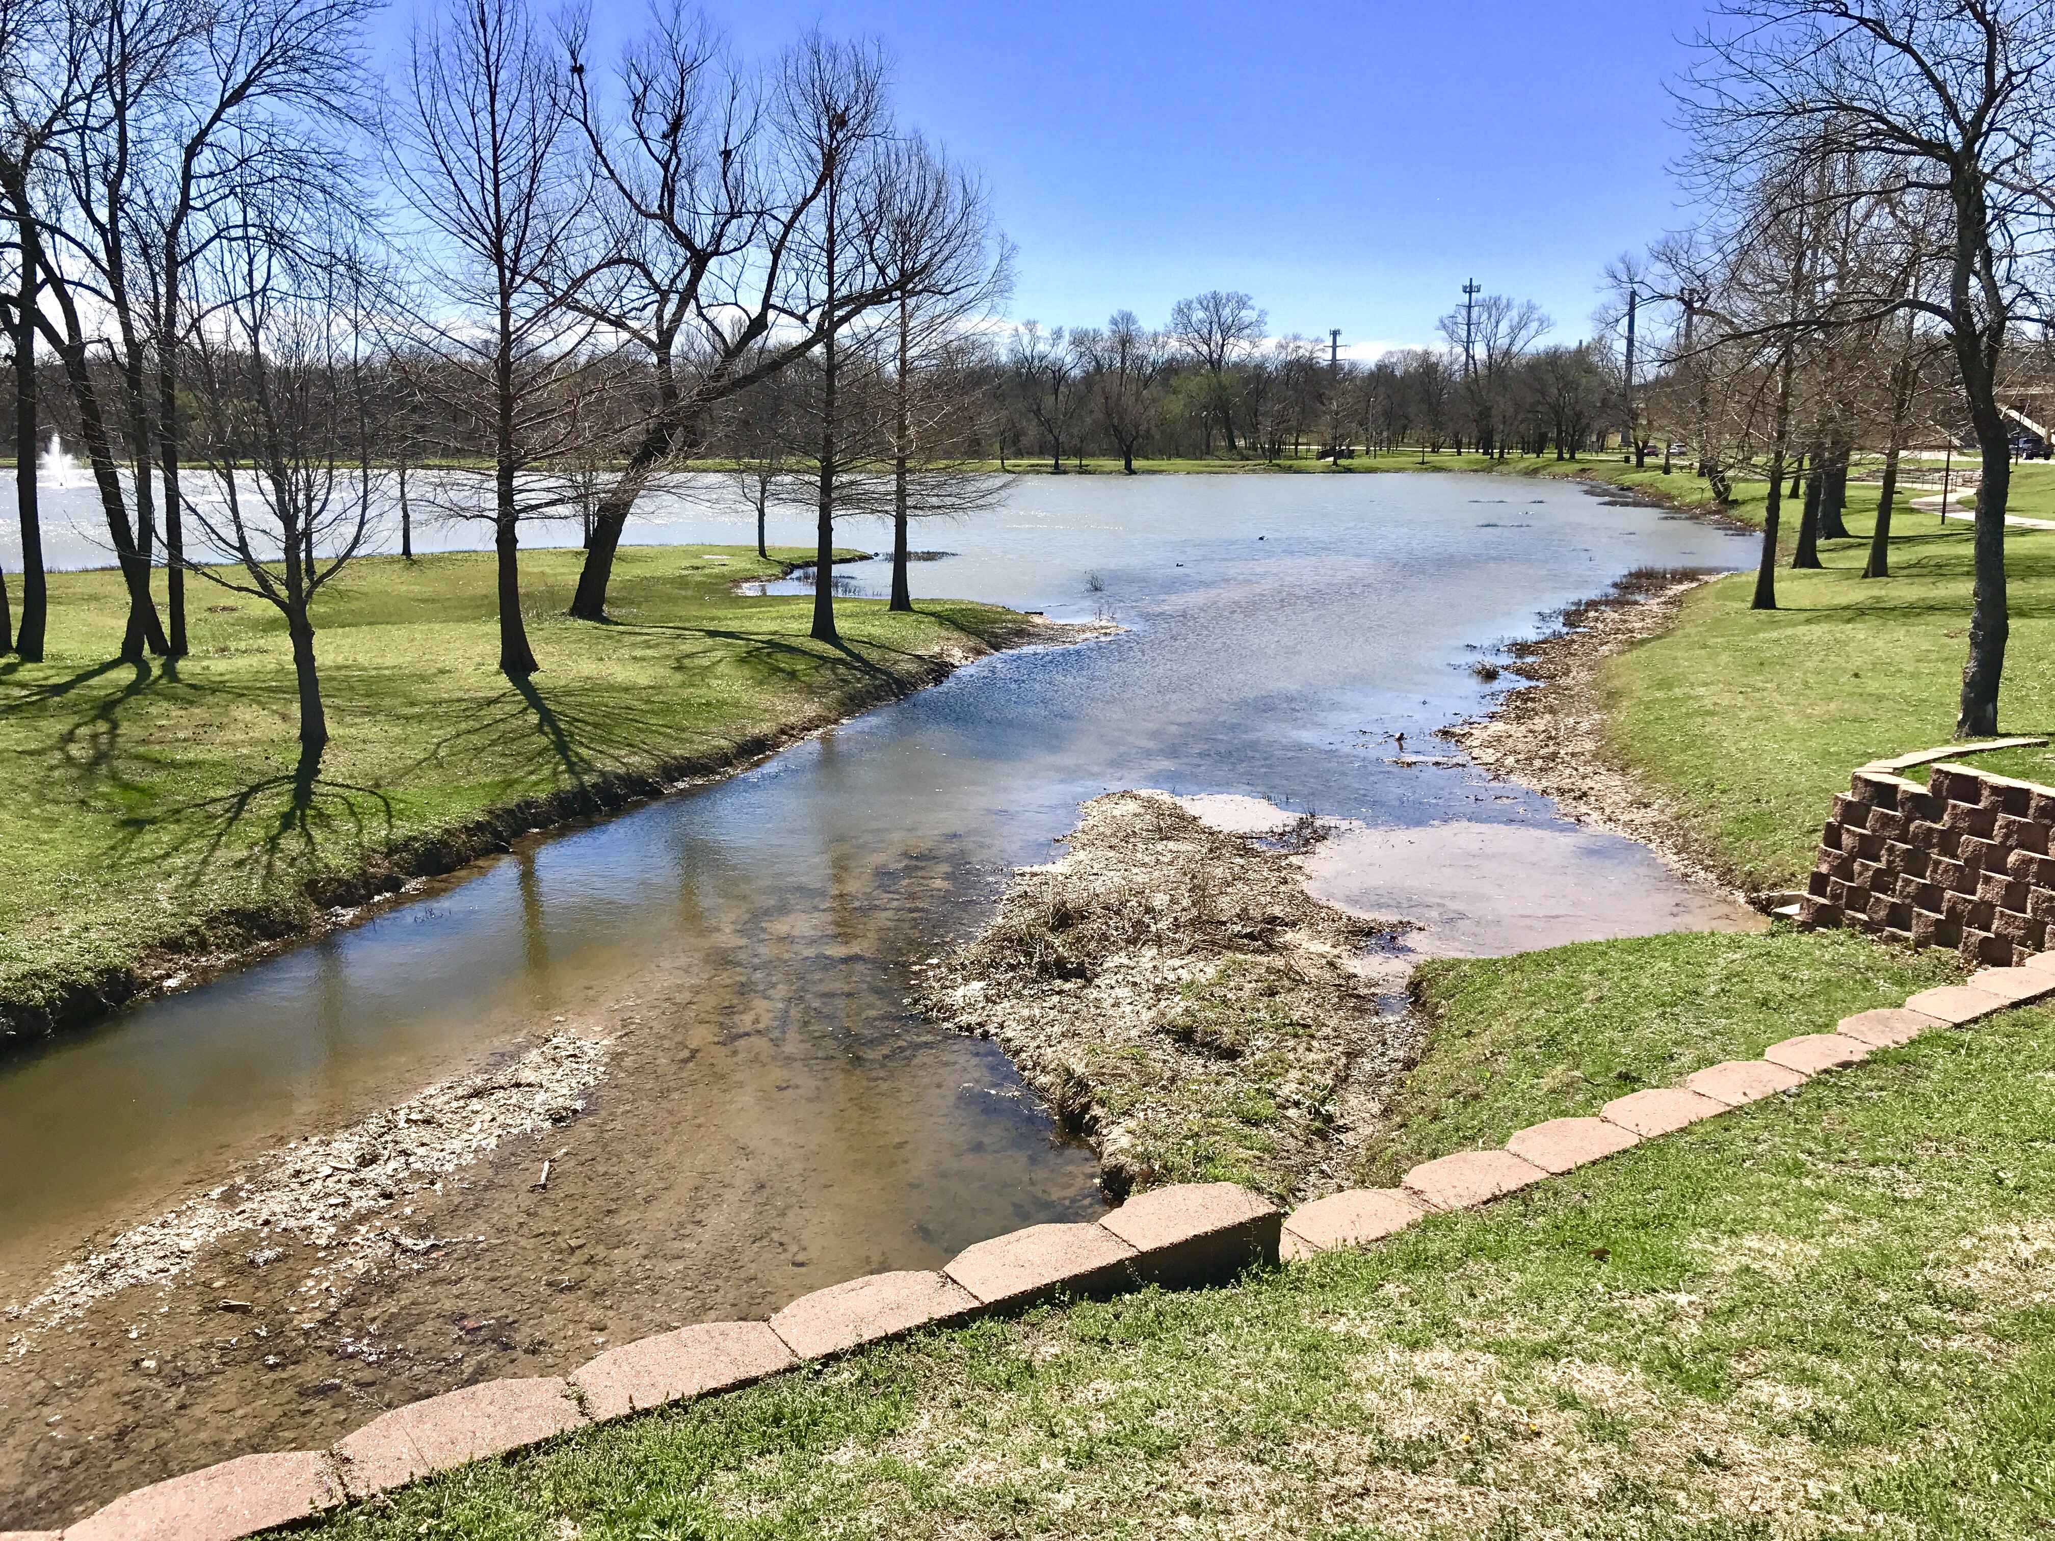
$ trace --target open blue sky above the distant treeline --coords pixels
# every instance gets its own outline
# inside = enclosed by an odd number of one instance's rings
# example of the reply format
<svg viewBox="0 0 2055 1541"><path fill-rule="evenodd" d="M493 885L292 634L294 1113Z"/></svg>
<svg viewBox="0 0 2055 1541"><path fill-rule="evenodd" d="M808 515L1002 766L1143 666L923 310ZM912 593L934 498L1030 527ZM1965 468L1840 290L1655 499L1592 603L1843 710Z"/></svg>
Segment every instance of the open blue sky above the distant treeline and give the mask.
<svg viewBox="0 0 2055 1541"><path fill-rule="evenodd" d="M641 4L594 10L619 35ZM1223 288L1274 335L1422 343L1475 277L1576 339L1603 263L1689 220L1665 84L1704 0L707 10L744 55L810 25L882 41L904 121L984 173L1019 247L1011 314L1044 325L1161 325Z"/></svg>

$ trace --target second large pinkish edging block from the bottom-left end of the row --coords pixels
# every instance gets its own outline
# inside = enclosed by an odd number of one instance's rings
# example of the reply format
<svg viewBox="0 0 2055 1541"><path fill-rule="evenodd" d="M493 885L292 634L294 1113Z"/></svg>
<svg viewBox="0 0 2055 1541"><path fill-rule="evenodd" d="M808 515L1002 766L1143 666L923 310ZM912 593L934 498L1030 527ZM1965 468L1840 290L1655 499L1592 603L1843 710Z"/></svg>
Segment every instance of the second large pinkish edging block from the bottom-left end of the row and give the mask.
<svg viewBox="0 0 2055 1541"><path fill-rule="evenodd" d="M483 1381L395 1407L335 1442L343 1486L351 1498L370 1498L432 1471L540 1444L586 1422L569 1391L555 1375Z"/></svg>

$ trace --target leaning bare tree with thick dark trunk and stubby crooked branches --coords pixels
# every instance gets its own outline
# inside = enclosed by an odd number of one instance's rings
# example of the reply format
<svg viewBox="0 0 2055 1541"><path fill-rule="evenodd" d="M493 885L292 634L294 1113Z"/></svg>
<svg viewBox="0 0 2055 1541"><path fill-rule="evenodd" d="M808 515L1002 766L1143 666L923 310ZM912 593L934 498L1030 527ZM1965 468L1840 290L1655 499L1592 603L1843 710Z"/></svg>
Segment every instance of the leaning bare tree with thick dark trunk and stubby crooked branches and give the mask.
<svg viewBox="0 0 2055 1541"><path fill-rule="evenodd" d="M616 286L604 306L584 304L647 353L656 386L600 499L571 600L573 616L602 621L637 497L705 448L719 403L896 300L847 253L832 284L822 263L828 224L836 242L851 236L855 162L888 127L886 80L875 49L810 35L764 86L670 4L621 62L616 121L592 86L582 18L565 31L565 53L616 232Z"/></svg>

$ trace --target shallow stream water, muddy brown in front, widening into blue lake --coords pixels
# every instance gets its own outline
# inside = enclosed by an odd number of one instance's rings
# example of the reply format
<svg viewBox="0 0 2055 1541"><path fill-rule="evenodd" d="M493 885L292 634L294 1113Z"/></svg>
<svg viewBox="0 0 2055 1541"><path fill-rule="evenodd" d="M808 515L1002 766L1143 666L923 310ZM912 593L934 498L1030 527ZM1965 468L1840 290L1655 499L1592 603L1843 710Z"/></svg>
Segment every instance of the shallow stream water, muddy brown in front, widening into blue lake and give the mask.
<svg viewBox="0 0 2055 1541"><path fill-rule="evenodd" d="M631 530L651 536L732 544L750 526L672 508ZM797 518L773 528L804 538ZM1510 844L1554 892L1607 896L1603 914L1552 918L1549 939L1741 918L1545 799L1395 760L1484 709L1480 647L1634 567L1745 565L1747 540L1574 487L1406 475L1034 479L919 544L960 555L919 563L917 594L1128 631L984 660L732 781L534 836L358 929L0 1066L0 1301L21 1301L88 1233L294 1132L559 1021L614 1040L586 1118L421 1200L409 1223L442 1237L423 1270L345 1282L321 1327L286 1331L312 1257L257 1274L228 1249L187 1286L0 1358L0 1494L16 1494L0 1529L331 1438L462 1381L563 1370L600 1340L762 1313L1095 1212L1089 1151L995 1050L935 1033L904 994L1099 791L1519 830ZM838 573L880 581L877 565ZM1399 849L1381 898L1490 951L1502 890L1443 865ZM1508 916L1504 949L1531 935ZM534 1192L545 1157L555 1173ZM253 1313L212 1315L224 1292Z"/></svg>

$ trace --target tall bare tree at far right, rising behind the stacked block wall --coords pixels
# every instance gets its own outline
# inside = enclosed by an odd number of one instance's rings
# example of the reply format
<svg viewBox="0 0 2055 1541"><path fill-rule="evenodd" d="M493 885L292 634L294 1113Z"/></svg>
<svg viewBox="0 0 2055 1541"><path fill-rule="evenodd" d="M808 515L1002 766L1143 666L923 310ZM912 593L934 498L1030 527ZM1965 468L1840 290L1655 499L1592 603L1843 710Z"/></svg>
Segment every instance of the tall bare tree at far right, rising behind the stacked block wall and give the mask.
<svg viewBox="0 0 2055 1541"><path fill-rule="evenodd" d="M2010 333L2045 318L2051 183L2049 0L1741 0L1704 39L1691 88L1693 162L1751 197L1763 166L1835 156L1839 199L1938 195L1921 234L1936 281L1847 296L1815 325L1917 310L1948 337L1981 452L1975 598L1956 734L1997 729L2006 660L2010 429L1997 388Z"/></svg>

